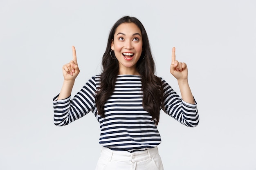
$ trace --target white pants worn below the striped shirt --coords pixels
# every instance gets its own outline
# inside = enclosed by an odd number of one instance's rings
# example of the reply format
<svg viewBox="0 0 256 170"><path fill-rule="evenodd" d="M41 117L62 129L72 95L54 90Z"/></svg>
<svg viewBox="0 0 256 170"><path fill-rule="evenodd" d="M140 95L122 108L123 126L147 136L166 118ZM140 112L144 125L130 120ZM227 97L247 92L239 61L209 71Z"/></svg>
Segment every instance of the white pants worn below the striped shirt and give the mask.
<svg viewBox="0 0 256 170"><path fill-rule="evenodd" d="M137 152L102 147L96 170L164 170L157 147Z"/></svg>

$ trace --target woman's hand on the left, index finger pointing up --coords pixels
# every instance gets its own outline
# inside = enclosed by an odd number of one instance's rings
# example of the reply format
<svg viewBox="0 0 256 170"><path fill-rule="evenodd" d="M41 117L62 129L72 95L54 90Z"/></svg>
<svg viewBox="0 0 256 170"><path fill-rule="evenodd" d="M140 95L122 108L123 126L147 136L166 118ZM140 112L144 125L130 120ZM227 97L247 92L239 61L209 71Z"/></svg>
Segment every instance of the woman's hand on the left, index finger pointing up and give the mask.
<svg viewBox="0 0 256 170"><path fill-rule="evenodd" d="M76 49L72 46L73 60L62 67L64 81L74 81L80 70L76 61Z"/></svg>

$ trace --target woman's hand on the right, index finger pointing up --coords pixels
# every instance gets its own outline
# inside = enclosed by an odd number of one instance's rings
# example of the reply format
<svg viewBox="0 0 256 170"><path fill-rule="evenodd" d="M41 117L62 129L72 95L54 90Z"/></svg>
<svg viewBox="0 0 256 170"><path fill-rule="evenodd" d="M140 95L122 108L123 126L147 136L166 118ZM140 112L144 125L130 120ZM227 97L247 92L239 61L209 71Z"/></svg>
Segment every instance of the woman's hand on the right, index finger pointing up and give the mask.
<svg viewBox="0 0 256 170"><path fill-rule="evenodd" d="M172 62L171 62L171 74L177 79L188 79L188 68L186 63L178 62L175 58L175 47L173 47L172 51Z"/></svg>

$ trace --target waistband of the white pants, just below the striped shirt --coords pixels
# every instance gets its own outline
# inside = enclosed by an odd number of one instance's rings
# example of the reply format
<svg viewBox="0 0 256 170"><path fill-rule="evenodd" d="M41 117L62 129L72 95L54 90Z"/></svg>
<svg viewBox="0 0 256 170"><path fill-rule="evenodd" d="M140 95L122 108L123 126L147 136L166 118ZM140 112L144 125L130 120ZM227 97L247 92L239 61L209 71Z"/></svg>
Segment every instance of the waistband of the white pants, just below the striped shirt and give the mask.
<svg viewBox="0 0 256 170"><path fill-rule="evenodd" d="M132 153L128 151L111 150L105 146L101 149L101 156L105 157L105 159L108 159L109 161L142 161L151 159L151 157L156 154L158 154L157 147Z"/></svg>

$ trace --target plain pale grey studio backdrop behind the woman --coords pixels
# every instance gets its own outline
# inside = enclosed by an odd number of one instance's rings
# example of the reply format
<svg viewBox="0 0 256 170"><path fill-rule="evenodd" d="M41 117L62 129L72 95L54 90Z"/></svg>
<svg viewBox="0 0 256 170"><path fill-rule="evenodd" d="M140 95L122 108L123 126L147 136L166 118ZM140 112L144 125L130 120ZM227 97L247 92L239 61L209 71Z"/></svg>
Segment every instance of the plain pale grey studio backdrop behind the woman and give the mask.
<svg viewBox="0 0 256 170"><path fill-rule="evenodd" d="M255 0L1 0L0 169L94 170L99 123L92 113L64 127L52 99L76 47L81 70L72 96L101 71L111 26L124 15L144 24L156 74L171 49L186 62L200 123L189 128L161 111L165 170L256 170Z"/></svg>

